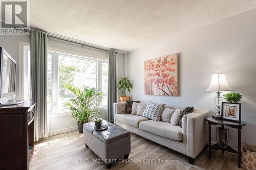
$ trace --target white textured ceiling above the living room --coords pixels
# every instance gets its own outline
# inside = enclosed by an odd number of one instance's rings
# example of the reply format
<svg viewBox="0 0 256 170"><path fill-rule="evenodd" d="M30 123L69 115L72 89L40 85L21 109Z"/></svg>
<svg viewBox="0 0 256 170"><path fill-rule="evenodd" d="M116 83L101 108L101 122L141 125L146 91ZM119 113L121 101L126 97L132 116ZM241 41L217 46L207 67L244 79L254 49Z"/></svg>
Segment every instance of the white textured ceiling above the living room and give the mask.
<svg viewBox="0 0 256 170"><path fill-rule="evenodd" d="M30 0L30 26L129 52L253 8L253 0Z"/></svg>

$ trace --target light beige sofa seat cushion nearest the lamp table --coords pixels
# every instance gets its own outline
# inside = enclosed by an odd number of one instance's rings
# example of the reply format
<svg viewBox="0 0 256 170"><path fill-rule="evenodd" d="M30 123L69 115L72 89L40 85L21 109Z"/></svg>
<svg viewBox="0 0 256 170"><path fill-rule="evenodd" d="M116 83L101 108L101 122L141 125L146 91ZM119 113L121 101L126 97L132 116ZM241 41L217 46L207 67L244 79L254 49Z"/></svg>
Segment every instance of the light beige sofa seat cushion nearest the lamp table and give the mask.
<svg viewBox="0 0 256 170"><path fill-rule="evenodd" d="M153 120L147 120L140 123L139 128L141 130L153 133L158 136L166 137L180 141L182 140L182 129L180 126L173 126L166 122L155 122Z"/></svg>

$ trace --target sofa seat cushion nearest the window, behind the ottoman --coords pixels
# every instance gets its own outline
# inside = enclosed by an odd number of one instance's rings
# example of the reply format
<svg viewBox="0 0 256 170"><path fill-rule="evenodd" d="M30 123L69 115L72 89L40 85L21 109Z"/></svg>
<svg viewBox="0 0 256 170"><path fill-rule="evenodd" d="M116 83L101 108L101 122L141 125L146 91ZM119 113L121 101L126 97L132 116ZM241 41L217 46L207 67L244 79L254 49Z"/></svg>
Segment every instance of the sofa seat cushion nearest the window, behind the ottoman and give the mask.
<svg viewBox="0 0 256 170"><path fill-rule="evenodd" d="M119 122L131 125L134 127L139 127L140 122L148 120L148 118L137 116L135 114L116 114L115 119Z"/></svg>

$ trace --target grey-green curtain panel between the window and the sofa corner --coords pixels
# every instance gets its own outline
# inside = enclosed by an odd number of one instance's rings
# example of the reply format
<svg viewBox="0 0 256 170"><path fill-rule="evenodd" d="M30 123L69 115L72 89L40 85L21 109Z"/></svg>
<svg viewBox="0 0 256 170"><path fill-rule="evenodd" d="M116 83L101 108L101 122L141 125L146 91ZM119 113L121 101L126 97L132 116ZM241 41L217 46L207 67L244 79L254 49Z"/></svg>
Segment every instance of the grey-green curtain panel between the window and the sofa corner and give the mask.
<svg viewBox="0 0 256 170"><path fill-rule="evenodd" d="M108 89L108 121L114 122L113 104L117 102L116 89L116 52L109 51L109 89Z"/></svg>

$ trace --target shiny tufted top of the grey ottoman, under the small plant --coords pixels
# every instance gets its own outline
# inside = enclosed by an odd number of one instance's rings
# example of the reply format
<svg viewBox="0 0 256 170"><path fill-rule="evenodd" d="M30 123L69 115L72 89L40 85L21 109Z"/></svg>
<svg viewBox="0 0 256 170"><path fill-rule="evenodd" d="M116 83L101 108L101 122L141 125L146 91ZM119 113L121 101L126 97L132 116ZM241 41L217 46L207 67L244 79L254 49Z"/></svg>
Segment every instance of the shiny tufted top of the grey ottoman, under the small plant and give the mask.
<svg viewBox="0 0 256 170"><path fill-rule="evenodd" d="M103 141L104 143L112 143L121 138L127 137L131 135L131 132L123 129L117 125L114 125L110 122L102 121L102 125L108 125L109 129L104 131L95 131L94 130L94 122L83 124L83 128L92 133L95 137Z"/></svg>

